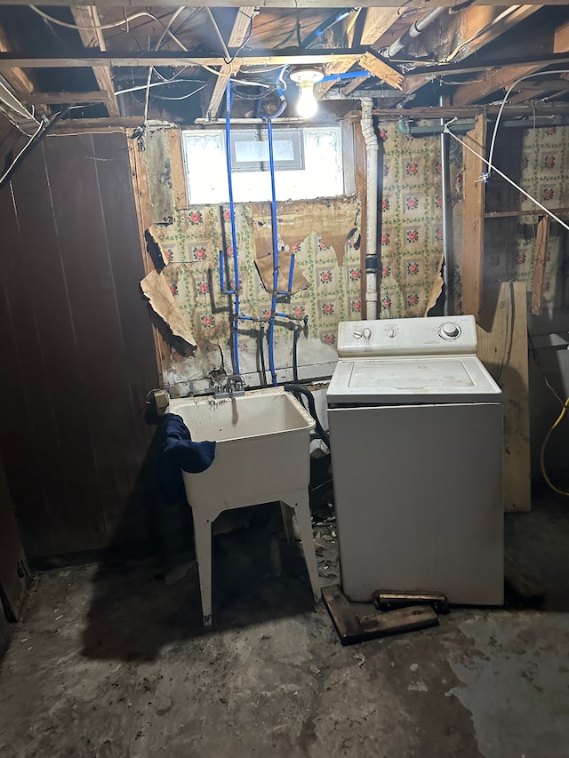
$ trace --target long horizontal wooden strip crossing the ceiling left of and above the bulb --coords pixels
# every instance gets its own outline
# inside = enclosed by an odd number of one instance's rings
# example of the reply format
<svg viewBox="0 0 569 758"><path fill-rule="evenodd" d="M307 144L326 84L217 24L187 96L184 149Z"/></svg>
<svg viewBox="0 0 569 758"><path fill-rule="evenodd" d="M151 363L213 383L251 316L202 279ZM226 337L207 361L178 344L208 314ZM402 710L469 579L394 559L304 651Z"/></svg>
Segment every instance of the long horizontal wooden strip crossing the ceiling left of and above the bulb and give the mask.
<svg viewBox="0 0 569 758"><path fill-rule="evenodd" d="M246 66L280 66L294 64L332 63L344 60L355 63L364 55L366 48L353 51L340 50L279 50L276 54L270 52L260 54L260 51L241 51L229 49L231 55ZM225 63L220 55L201 55L179 52L136 52L117 53L93 51L89 55L80 56L41 56L27 55L20 52L0 52L0 69L6 68L92 68L93 66L108 65L115 67L148 68L148 66L222 66Z"/></svg>

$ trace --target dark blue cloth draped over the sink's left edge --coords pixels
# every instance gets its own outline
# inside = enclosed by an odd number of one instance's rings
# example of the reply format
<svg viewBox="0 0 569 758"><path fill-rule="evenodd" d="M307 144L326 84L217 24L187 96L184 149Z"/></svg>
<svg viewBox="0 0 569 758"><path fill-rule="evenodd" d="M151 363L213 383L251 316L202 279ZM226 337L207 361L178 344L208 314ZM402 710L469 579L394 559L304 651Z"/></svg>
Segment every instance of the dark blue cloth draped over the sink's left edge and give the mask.
<svg viewBox="0 0 569 758"><path fill-rule="evenodd" d="M158 484L168 503L186 499L182 469L188 474L200 474L212 465L215 443L206 440L195 443L181 416L167 413L162 427L162 453L158 461Z"/></svg>

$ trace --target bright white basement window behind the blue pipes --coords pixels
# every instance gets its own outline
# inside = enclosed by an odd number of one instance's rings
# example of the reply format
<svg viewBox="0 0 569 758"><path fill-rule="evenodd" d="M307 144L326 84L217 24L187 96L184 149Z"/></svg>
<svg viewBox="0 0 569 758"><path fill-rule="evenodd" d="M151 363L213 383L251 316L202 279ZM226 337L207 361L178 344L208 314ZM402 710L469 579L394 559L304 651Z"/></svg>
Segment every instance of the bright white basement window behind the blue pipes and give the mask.
<svg viewBox="0 0 569 758"><path fill-rule="evenodd" d="M267 128L232 130L231 179L236 203L271 199ZM225 132L187 130L182 149L188 199L192 205L228 203ZM352 195L354 180L346 176L345 130L341 126L273 130L277 200L311 200ZM348 162L351 168L353 161Z"/></svg>

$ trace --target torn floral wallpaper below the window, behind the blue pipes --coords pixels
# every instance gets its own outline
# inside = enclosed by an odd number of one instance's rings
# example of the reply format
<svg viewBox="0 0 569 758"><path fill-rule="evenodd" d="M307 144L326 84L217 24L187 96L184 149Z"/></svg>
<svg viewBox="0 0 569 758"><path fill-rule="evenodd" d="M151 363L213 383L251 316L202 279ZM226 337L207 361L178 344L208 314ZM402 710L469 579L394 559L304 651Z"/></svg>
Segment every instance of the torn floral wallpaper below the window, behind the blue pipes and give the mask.
<svg viewBox="0 0 569 758"><path fill-rule="evenodd" d="M352 209L357 207L354 199L346 198L336 202L349 203ZM279 212L280 209L284 211L295 204L301 205L304 214L309 213L310 202L279 203ZM248 204L236 206L240 308L244 315L250 315L255 319L268 319L271 297L263 288L254 265L257 251L252 208L253 206ZM226 364L229 365L228 296L220 292L219 258L224 240L229 260L234 254L228 207L203 206L176 211L171 225L155 228L168 259L168 265L163 272L164 277L180 311L186 315L198 342L204 344L209 341L223 347L226 352ZM308 316L309 336L319 339L326 346L335 346L337 325L340 321L361 317L362 271L360 253L355 247L355 242L356 240L350 240L346 244L342 266L338 264L333 247L325 243L317 232L289 247L295 252L295 266L306 277L309 287L295 292L290 303L280 302L278 311L293 315L299 320ZM230 284L233 286L234 269L231 264L229 271ZM286 348L292 345L292 332L289 327L290 322L286 319L276 320L277 355L279 346L282 348L280 355L290 354L290 350L286 351ZM240 329L238 347L244 371L255 371L258 328L258 323L245 321ZM183 363L185 360L183 355L175 352L172 354L172 363Z"/></svg>

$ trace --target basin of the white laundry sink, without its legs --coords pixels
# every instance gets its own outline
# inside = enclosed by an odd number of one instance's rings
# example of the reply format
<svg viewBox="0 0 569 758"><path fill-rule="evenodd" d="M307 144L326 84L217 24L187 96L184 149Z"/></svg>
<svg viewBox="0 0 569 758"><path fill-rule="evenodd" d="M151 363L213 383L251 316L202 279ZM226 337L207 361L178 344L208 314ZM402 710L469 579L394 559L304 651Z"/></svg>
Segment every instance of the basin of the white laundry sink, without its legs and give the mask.
<svg viewBox="0 0 569 758"><path fill-rule="evenodd" d="M212 466L183 473L188 503L219 510L305 490L310 478L310 432L315 421L290 393L260 389L244 395L172 400L192 440L215 440Z"/></svg>

